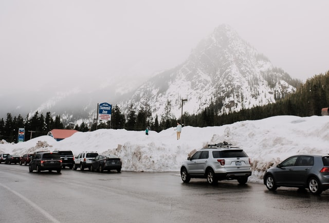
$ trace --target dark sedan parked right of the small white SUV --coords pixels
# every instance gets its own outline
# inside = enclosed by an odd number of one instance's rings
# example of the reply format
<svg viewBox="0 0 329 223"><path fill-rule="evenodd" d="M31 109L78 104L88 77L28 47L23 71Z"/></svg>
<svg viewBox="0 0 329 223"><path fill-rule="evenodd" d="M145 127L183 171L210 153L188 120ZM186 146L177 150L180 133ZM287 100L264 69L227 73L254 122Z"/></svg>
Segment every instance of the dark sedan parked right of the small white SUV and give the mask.
<svg viewBox="0 0 329 223"><path fill-rule="evenodd" d="M103 172L104 170L111 171L117 170L118 173L121 172L122 161L116 155L98 155L93 160L92 165L90 166L90 171L99 171Z"/></svg>

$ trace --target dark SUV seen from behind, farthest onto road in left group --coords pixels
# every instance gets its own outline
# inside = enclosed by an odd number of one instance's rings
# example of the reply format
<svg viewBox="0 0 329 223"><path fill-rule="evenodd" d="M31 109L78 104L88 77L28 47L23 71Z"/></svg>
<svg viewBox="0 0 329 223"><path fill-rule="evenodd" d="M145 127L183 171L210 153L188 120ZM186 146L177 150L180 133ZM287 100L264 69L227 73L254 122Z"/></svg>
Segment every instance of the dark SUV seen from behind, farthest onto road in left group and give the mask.
<svg viewBox="0 0 329 223"><path fill-rule="evenodd" d="M35 153L35 156L30 161L29 172L40 173L43 170L56 170L58 173L61 172L62 169L62 159L58 153L53 152L39 152Z"/></svg>

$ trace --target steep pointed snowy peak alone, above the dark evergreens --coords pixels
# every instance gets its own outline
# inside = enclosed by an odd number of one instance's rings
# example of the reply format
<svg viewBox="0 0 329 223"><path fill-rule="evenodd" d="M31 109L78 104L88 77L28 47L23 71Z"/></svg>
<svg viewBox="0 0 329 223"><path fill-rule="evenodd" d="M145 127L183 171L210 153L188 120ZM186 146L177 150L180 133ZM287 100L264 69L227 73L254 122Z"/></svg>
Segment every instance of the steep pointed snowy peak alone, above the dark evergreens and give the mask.
<svg viewBox="0 0 329 223"><path fill-rule="evenodd" d="M119 107L149 105L153 116L161 117L170 104L174 116L195 114L211 103L220 105L219 114L276 102L294 92L294 80L282 69L245 42L228 25L215 28L192 50L181 65L159 73L141 85Z"/></svg>

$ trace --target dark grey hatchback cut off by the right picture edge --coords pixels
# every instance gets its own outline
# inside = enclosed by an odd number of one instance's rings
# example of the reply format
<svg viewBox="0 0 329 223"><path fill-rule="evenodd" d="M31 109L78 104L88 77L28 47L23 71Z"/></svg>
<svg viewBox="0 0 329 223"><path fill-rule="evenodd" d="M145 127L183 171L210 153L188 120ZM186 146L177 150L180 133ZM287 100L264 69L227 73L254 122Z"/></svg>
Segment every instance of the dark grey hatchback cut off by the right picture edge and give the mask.
<svg viewBox="0 0 329 223"><path fill-rule="evenodd" d="M270 191L278 187L308 188L312 194L329 189L328 155L294 155L264 173L264 185Z"/></svg>

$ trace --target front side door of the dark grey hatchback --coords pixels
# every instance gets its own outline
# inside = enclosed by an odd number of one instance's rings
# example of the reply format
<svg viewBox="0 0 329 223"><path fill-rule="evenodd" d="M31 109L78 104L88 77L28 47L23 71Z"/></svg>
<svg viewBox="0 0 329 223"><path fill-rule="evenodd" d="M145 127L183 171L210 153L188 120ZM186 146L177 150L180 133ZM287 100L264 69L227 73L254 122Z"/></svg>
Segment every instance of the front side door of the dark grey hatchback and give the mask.
<svg viewBox="0 0 329 223"><path fill-rule="evenodd" d="M275 180L278 185L296 185L296 162L298 156L291 156L277 166Z"/></svg>

